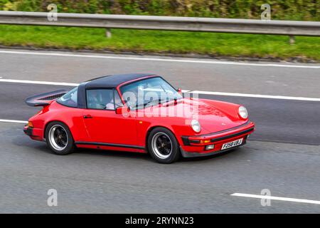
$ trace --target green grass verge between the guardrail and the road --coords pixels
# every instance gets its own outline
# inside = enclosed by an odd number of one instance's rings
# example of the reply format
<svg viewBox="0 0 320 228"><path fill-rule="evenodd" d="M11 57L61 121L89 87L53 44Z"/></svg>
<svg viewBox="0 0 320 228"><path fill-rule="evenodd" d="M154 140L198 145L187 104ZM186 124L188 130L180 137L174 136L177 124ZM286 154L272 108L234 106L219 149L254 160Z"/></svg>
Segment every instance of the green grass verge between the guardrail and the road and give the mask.
<svg viewBox="0 0 320 228"><path fill-rule="evenodd" d="M112 29L106 38L104 28L1 25L0 45L320 61L320 37L303 36L290 45L288 36Z"/></svg>

